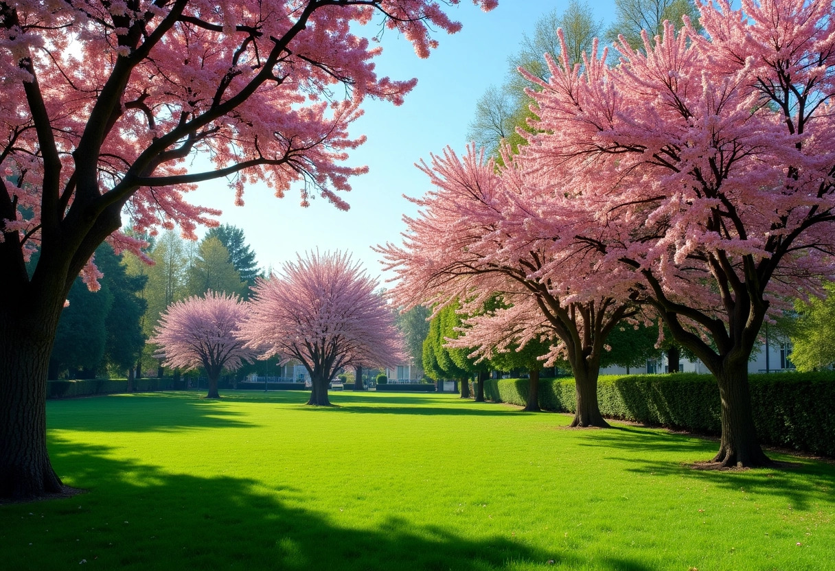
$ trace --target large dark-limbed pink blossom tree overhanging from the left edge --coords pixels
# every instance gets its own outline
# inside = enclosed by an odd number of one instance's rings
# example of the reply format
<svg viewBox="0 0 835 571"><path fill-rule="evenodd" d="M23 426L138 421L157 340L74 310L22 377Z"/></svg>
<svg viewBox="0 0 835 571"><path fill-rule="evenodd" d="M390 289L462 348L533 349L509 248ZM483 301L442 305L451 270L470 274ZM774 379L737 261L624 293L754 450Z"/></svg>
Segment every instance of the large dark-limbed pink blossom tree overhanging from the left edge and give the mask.
<svg viewBox="0 0 835 571"><path fill-rule="evenodd" d="M372 21L422 58L430 28L460 28L433 0L0 0L0 497L62 489L48 356L75 277L97 287L96 247L139 252L123 213L139 235L179 224L194 237L219 213L185 192L216 178L238 203L261 180L347 208L339 193L366 170L343 164L363 141L348 127L364 99L400 104L415 85L377 77Z"/></svg>

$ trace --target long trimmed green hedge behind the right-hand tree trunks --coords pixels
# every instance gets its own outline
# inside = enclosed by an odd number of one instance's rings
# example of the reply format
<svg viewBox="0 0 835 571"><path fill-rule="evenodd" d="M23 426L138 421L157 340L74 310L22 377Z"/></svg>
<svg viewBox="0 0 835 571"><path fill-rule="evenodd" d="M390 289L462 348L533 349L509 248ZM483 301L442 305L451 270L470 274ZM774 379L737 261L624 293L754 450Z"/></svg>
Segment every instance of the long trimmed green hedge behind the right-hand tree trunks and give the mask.
<svg viewBox="0 0 835 571"><path fill-rule="evenodd" d="M835 456L835 372L751 375L751 408L765 444ZM528 379L490 380L485 397L524 406ZM719 388L711 375L600 376L600 412L607 418L693 432L721 432ZM539 382L539 407L574 412L574 379Z"/></svg>

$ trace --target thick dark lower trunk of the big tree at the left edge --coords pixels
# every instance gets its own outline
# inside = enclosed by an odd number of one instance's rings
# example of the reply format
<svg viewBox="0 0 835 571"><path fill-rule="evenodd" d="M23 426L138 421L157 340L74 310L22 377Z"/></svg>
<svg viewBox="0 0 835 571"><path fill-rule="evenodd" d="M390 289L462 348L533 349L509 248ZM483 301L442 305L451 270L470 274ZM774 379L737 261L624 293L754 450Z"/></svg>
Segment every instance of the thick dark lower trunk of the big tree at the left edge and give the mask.
<svg viewBox="0 0 835 571"><path fill-rule="evenodd" d="M39 309L0 310L0 498L38 498L63 489L49 462L46 423L60 308ZM9 315L13 311L17 315Z"/></svg>

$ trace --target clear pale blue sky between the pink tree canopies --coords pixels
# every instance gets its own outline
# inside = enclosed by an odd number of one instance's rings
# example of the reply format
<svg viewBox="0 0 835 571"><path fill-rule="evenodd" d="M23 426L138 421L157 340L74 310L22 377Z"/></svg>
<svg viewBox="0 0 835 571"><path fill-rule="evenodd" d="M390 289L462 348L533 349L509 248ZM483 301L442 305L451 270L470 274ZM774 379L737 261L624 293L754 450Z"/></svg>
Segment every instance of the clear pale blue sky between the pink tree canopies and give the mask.
<svg viewBox="0 0 835 571"><path fill-rule="evenodd" d="M611 0L587 0L595 17L608 20ZM382 274L372 245L399 242L405 229L404 213L414 214L402 195L420 196L428 179L414 164L439 153L446 145L462 151L475 104L489 85L506 77L509 55L519 48L523 33L532 33L540 15L565 0L499 0L498 8L483 13L468 0L449 9L463 30L438 33L440 46L428 59L419 59L404 38L388 32L383 53L376 59L380 75L395 79L416 77L417 87L401 107L367 100L365 116L352 125L352 135L366 134L367 143L352 152L349 164L368 165L368 174L352 179L352 192L342 194L351 210L337 210L321 198L301 208L297 193L276 199L270 189L254 185L246 190L245 206L236 207L224 180L203 183L190 200L223 210L220 221L239 226L263 268L276 270L305 250L349 250L368 273ZM375 28L376 29L376 28ZM374 33L372 31L372 33ZM205 230L201 230L205 231Z"/></svg>

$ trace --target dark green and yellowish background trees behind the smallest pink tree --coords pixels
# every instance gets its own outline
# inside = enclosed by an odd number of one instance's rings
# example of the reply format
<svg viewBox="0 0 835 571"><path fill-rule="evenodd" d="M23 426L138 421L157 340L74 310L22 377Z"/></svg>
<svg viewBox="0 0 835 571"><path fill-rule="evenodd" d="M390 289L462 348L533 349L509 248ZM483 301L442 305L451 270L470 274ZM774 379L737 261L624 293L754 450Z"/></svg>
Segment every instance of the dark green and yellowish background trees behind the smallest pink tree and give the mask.
<svg viewBox="0 0 835 571"><path fill-rule="evenodd" d="M58 322L49 378L161 376L155 347L146 341L165 309L210 290L247 299L259 275L255 252L232 225L212 228L200 242L174 230L143 238L154 265L117 255L105 243L95 254L104 274L99 291L76 278Z"/></svg>

